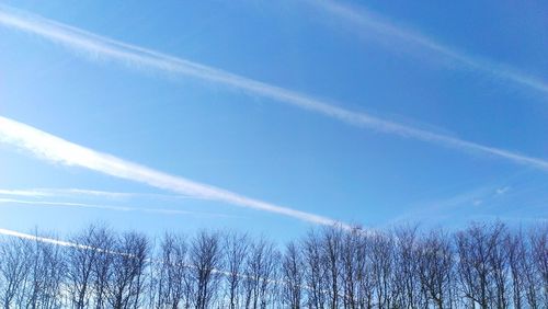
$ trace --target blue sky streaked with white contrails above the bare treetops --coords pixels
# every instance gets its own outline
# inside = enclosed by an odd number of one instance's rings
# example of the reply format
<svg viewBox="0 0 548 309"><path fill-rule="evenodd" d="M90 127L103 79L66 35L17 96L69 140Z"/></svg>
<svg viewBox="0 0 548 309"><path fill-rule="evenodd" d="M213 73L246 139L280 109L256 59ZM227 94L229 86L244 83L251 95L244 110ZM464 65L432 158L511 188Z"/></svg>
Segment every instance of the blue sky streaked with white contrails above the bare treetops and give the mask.
<svg viewBox="0 0 548 309"><path fill-rule="evenodd" d="M329 220L545 221L547 14L541 1L2 2L0 228L284 240Z"/></svg>

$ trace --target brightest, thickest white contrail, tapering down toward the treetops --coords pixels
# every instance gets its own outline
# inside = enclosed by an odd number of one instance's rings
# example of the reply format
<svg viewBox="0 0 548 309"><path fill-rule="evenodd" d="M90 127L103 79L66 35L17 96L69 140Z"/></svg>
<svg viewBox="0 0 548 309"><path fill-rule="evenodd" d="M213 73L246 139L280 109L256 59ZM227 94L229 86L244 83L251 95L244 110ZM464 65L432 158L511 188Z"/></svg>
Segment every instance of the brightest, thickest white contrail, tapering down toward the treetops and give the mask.
<svg viewBox="0 0 548 309"><path fill-rule="evenodd" d="M228 203L247 208L275 213L319 225L341 225L334 219L253 199L227 190L170 175L111 154L67 141L28 125L0 116L0 141L30 150L41 159L87 168L112 176L145 183L153 187Z"/></svg>

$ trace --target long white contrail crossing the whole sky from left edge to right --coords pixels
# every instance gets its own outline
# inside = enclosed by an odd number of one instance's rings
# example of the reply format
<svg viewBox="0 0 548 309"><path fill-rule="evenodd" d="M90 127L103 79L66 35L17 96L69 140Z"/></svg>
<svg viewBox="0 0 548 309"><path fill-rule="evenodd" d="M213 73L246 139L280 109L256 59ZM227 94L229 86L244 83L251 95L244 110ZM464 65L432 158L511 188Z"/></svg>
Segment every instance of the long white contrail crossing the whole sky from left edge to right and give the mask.
<svg viewBox="0 0 548 309"><path fill-rule="evenodd" d="M375 117L366 113L350 111L299 92L240 77L238 75L141 48L135 45L117 42L41 16L27 13L23 14L20 11L8 9L4 5L0 5L0 24L60 43L73 50L80 52L78 53L79 55L83 53L94 56L94 59L103 57L130 67L145 67L181 76L190 76L201 80L238 89L249 94L269 98L310 112L322 114L353 126L422 140L461 151L499 157L514 163L548 171L548 161L543 159L527 157L509 150L483 146L456 137L427 131L416 127Z"/></svg>

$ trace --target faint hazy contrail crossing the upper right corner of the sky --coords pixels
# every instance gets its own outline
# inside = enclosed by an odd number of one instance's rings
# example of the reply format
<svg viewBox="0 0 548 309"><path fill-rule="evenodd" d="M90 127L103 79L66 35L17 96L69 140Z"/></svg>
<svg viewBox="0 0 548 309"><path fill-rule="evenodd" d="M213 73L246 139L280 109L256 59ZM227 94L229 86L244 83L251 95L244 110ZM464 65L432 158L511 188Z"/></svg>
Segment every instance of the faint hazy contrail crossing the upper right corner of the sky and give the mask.
<svg viewBox="0 0 548 309"><path fill-rule="evenodd" d="M435 53L446 59L450 59L468 69L489 73L490 76L513 82L517 85L548 94L548 83L537 77L527 75L504 64L457 50L424 34L399 26L363 7L350 7L340 1L331 0L305 0L305 2L351 24L352 31L373 31L392 41L397 39L403 43L410 43L421 47L423 50Z"/></svg>

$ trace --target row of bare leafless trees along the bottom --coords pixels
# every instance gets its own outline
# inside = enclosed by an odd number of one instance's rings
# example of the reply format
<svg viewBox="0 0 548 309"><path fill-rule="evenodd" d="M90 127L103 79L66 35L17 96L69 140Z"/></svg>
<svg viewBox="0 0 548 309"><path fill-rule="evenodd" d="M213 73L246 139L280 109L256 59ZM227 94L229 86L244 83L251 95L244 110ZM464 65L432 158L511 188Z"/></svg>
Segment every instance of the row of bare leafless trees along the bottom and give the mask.
<svg viewBox="0 0 548 309"><path fill-rule="evenodd" d="M44 237L44 236L42 236ZM548 226L0 239L3 308L548 308Z"/></svg>

